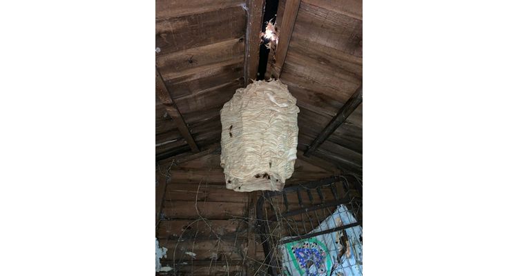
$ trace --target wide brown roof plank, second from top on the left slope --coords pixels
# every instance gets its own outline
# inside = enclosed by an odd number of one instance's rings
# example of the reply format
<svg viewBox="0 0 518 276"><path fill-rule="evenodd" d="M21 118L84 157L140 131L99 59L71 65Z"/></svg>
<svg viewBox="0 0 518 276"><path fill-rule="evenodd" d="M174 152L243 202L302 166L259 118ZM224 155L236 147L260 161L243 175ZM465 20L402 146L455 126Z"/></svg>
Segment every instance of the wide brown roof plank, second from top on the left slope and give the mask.
<svg viewBox="0 0 518 276"><path fill-rule="evenodd" d="M229 39L244 39L245 30L246 13L240 6L158 20L155 24L155 44L160 48L157 56Z"/></svg>

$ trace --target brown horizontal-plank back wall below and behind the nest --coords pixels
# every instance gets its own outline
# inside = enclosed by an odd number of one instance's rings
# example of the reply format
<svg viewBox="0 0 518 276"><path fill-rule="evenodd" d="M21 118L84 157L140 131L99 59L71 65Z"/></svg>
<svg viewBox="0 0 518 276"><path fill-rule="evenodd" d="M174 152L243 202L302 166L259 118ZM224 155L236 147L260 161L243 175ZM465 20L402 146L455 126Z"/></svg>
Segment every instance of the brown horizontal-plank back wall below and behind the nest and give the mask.
<svg viewBox="0 0 518 276"><path fill-rule="evenodd" d="M332 165L325 170L319 167L322 164L315 166L301 158L287 186L339 173ZM156 237L160 246L168 248L162 264L175 266L184 275L255 273L264 259L260 239L251 227L261 192L227 190L217 151L171 166L173 160L157 166Z"/></svg>

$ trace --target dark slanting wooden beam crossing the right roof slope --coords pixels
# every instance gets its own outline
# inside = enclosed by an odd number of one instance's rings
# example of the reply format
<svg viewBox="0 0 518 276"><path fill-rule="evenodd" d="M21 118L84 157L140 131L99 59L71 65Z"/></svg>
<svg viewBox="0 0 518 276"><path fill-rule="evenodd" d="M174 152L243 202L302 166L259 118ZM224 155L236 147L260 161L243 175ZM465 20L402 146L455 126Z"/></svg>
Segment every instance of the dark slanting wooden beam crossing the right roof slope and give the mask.
<svg viewBox="0 0 518 276"><path fill-rule="evenodd" d="M362 103L363 101L363 84L356 89L356 92L347 100L347 102L338 110L334 118L329 121L329 124L320 132L320 134L311 142L309 148L304 152L304 156L310 156L328 137L332 135L334 130L338 128L349 115Z"/></svg>

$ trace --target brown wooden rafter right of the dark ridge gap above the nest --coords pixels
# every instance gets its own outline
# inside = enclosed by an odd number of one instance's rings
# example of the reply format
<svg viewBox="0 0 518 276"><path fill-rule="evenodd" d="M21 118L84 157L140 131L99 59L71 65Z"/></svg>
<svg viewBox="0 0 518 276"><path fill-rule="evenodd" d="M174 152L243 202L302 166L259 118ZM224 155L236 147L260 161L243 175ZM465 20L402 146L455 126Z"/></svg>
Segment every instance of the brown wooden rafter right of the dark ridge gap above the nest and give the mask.
<svg viewBox="0 0 518 276"><path fill-rule="evenodd" d="M300 0L287 0L284 14L282 15L282 23L279 31L279 42L275 53L275 63L271 68L271 77L278 79L282 72L282 66L286 59L288 52L289 41L291 40L291 33L295 26L297 19L298 8L300 6Z"/></svg>

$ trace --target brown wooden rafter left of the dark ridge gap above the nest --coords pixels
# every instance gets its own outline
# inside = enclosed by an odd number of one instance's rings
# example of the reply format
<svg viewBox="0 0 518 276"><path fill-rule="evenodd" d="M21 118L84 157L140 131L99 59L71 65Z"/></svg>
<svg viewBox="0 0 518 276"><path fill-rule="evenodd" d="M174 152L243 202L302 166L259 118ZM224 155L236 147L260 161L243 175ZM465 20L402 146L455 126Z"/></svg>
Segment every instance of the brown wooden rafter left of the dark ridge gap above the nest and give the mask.
<svg viewBox="0 0 518 276"><path fill-rule="evenodd" d="M247 0L247 44L244 48L244 84L257 79L265 0Z"/></svg>

